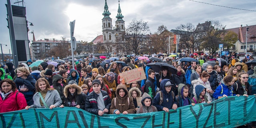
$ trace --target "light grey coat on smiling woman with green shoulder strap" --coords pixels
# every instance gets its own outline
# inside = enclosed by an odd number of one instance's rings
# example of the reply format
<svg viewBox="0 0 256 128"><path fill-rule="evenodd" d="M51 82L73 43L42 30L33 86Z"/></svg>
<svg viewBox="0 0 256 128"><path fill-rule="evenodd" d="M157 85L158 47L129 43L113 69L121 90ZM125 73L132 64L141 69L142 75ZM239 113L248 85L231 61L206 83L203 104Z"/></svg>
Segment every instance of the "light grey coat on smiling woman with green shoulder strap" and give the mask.
<svg viewBox="0 0 256 128"><path fill-rule="evenodd" d="M34 104L30 106L31 108L46 108L46 106L41 106L39 92L36 92L36 94L34 94L33 100ZM44 101L48 107L50 107L51 105L59 107L62 103L60 95L56 90L48 90L44 98Z"/></svg>

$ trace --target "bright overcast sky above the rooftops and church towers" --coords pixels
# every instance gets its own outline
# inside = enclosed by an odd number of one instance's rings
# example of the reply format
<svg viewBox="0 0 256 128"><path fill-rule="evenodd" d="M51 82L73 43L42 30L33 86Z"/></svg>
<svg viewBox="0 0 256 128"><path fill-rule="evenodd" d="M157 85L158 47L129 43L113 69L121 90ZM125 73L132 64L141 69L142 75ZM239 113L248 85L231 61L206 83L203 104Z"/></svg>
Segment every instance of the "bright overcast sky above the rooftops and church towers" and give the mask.
<svg viewBox="0 0 256 128"><path fill-rule="evenodd" d="M21 0L19 0L21 1ZM132 19L142 19L148 22L150 31L156 32L158 26L164 25L168 30L175 29L180 24L188 22L196 26L207 20L218 20L226 29L238 28L256 24L256 0L120 0L123 20L126 28ZM14 4L17 0L11 0ZM213 6L216 4L220 6ZM0 43L3 52L9 53L10 36L6 27L6 0L0 0ZM34 26L28 26L30 32L34 30L36 40L58 39L66 37L70 40L69 23L76 20L74 37L76 40L91 42L102 34L102 13L105 0L24 0L26 17ZM118 0L107 0L114 26L118 10ZM17 5L18 4L14 4ZM20 3L19 6L22 6ZM231 8L224 8L227 6ZM240 8L246 10L237 10ZM254 11L247 11L254 10ZM32 34L28 34L32 40Z"/></svg>

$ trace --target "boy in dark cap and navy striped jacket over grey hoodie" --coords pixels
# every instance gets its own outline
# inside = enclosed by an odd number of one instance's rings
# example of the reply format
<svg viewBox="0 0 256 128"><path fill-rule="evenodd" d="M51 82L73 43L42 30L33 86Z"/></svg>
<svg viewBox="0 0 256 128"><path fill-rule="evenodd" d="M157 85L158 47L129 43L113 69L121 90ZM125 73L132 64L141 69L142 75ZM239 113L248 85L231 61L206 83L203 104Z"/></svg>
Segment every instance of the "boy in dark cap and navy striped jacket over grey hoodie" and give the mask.
<svg viewBox="0 0 256 128"><path fill-rule="evenodd" d="M109 114L111 99L106 91L100 89L100 80L93 80L92 88L93 91L86 97L84 110L92 114L98 114L99 116Z"/></svg>

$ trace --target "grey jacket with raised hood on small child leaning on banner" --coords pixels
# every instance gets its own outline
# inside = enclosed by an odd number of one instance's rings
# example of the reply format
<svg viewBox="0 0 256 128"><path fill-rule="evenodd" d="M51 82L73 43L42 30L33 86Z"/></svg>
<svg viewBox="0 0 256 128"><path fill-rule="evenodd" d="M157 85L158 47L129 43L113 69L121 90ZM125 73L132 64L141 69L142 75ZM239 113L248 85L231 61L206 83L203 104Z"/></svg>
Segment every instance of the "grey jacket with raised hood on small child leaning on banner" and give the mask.
<svg viewBox="0 0 256 128"><path fill-rule="evenodd" d="M151 100L150 106L145 106L145 104L144 104L145 99ZM152 98L146 92L144 92L144 94L142 95L141 104L142 104L142 106L140 106L140 108L138 108L136 113L146 113L146 112L156 112L157 111L156 107L152 105L153 104Z"/></svg>

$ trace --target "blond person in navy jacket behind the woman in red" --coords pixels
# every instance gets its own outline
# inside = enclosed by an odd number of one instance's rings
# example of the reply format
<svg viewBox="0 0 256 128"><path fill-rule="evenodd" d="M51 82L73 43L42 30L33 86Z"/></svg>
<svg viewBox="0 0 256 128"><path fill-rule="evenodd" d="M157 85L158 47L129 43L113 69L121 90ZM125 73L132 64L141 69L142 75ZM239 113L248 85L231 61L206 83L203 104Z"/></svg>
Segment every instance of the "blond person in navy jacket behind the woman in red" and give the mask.
<svg viewBox="0 0 256 128"><path fill-rule="evenodd" d="M17 77L14 82L18 88L18 91L24 94L28 106L32 105L34 103L33 95L36 91L36 80L32 78L29 70L25 67L17 68Z"/></svg>

